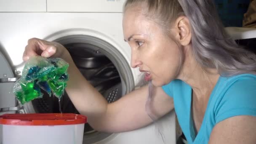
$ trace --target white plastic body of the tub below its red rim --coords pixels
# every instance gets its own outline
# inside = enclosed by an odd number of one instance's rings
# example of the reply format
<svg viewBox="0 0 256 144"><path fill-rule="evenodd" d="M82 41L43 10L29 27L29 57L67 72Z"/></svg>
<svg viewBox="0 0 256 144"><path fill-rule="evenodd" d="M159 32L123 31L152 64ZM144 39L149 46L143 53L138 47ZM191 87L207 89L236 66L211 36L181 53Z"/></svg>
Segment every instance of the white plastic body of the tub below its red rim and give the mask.
<svg viewBox="0 0 256 144"><path fill-rule="evenodd" d="M21 120L19 123L15 123L16 120L6 124L0 119L3 125L3 144L82 144L84 123L68 124L70 120L66 121L64 125L23 125L20 124Z"/></svg>

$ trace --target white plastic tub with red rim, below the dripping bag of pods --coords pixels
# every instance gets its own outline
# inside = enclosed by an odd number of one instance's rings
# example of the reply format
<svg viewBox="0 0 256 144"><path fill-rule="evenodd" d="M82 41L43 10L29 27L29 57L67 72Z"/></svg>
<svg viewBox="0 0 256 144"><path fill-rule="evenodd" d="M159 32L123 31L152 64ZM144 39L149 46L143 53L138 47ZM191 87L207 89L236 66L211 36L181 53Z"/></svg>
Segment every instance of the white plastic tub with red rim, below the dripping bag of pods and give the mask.
<svg viewBox="0 0 256 144"><path fill-rule="evenodd" d="M82 144L86 120L75 114L2 115L3 144Z"/></svg>

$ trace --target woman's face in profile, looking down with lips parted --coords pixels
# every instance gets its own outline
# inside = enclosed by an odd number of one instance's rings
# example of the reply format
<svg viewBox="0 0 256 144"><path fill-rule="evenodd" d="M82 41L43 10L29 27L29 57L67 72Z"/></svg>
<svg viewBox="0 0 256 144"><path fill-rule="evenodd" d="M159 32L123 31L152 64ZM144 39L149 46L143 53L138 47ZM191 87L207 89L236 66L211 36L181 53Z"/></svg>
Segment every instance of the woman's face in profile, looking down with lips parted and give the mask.
<svg viewBox="0 0 256 144"><path fill-rule="evenodd" d="M162 86L176 78L182 55L179 46L157 23L147 19L138 7L125 11L123 34L131 46L131 67L139 67L141 72L146 72L145 80Z"/></svg>

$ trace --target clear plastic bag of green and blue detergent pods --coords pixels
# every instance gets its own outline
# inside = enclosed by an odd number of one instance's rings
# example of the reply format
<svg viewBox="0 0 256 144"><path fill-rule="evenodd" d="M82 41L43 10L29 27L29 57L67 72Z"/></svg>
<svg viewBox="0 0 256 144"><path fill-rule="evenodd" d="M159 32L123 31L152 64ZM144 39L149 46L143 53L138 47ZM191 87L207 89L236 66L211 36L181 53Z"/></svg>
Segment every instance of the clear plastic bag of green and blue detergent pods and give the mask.
<svg viewBox="0 0 256 144"><path fill-rule="evenodd" d="M21 78L14 84L13 93L21 104L42 98L42 91L60 99L67 87L68 67L69 64L60 58L32 57L26 62Z"/></svg>

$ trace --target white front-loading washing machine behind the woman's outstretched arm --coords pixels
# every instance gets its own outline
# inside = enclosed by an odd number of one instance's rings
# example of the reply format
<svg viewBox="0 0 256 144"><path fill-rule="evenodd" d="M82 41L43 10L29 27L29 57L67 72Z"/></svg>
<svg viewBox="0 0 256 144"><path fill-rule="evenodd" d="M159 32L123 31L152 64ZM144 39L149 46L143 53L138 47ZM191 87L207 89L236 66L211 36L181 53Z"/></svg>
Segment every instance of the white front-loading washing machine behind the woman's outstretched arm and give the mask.
<svg viewBox="0 0 256 144"><path fill-rule="evenodd" d="M32 37L64 45L80 72L109 103L132 91L139 71L130 67L131 51L123 38L124 1L0 0L0 115L59 112L58 99L47 94L20 106L12 93L24 67L24 48ZM66 94L61 108L78 113ZM124 133L102 133L86 124L83 144L175 144L175 128L174 112Z"/></svg>

